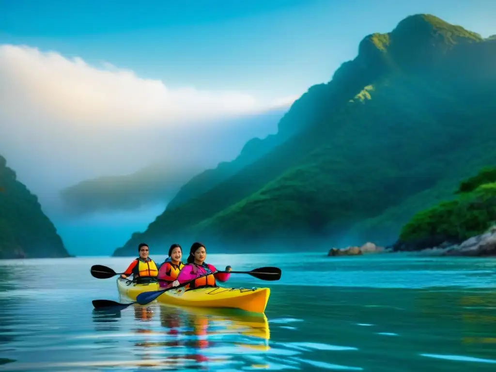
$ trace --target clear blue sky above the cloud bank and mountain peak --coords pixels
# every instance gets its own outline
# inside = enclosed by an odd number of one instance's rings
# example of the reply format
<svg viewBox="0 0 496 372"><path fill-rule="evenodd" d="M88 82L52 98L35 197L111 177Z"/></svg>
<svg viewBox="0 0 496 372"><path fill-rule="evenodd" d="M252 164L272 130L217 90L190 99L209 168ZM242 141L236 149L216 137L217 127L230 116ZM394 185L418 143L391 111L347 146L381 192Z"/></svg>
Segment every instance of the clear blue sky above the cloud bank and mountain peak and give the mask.
<svg viewBox="0 0 496 372"><path fill-rule="evenodd" d="M328 81L372 32L433 13L483 36L496 1L2 0L0 42L110 62L169 86L268 99ZM187 3L187 5L186 5Z"/></svg>

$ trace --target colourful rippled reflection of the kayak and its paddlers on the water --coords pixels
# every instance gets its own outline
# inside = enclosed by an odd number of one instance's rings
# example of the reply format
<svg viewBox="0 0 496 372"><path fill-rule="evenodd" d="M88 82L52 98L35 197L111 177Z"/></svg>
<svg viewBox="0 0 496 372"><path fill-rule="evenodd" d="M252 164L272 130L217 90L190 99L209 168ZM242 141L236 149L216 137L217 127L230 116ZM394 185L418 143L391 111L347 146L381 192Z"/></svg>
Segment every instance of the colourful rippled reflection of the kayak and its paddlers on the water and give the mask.
<svg viewBox="0 0 496 372"><path fill-rule="evenodd" d="M136 355L142 360L163 357L161 366L203 369L207 363L230 363L232 348L268 350L270 332L264 314L161 304L133 308L133 332L139 335L133 346L141 348Z"/></svg>

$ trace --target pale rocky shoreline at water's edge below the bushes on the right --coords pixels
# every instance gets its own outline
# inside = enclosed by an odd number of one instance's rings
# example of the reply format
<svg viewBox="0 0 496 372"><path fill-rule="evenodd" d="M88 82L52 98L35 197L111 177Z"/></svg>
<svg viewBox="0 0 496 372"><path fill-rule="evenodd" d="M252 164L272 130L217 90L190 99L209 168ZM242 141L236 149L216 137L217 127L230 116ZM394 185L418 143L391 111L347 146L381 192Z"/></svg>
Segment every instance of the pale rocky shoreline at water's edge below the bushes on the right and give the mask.
<svg viewBox="0 0 496 372"><path fill-rule="evenodd" d="M379 247L368 242L362 247L331 248L327 255L347 256L402 251L437 256L496 257L496 225L492 226L484 234L473 236L459 244L445 242L432 248L415 249L415 245L402 242L397 242L389 247Z"/></svg>

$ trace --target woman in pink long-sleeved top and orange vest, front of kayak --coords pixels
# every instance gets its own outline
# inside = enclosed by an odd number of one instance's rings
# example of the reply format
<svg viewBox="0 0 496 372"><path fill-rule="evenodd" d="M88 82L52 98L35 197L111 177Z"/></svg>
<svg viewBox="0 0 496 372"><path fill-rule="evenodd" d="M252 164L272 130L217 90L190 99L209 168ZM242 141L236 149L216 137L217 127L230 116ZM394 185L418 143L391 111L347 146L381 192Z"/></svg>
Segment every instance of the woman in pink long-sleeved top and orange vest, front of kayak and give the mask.
<svg viewBox="0 0 496 372"><path fill-rule="evenodd" d="M191 249L189 249L189 256L186 260L187 265L185 265L185 267L183 267L183 269L179 272L177 281L180 284L183 284L197 278L198 276L215 272L217 269L214 265L205 263L206 256L207 252L205 250L205 246L201 243L193 243ZM231 266L227 266L226 271L231 271ZM206 275L187 284L186 290L200 287L217 287L215 280L218 280L219 282L226 282L230 276L231 274L229 273ZM174 284L173 287L176 287L177 285Z"/></svg>

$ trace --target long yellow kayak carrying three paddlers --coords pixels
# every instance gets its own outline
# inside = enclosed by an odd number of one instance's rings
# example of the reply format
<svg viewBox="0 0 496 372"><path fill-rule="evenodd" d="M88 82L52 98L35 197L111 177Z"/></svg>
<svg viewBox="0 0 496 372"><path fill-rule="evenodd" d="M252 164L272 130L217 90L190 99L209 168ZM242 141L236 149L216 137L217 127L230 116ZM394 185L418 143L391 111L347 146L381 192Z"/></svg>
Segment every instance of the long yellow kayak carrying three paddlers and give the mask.
<svg viewBox="0 0 496 372"><path fill-rule="evenodd" d="M135 284L127 279L117 279L119 293L132 301L143 292L158 291L158 283ZM264 312L270 296L269 288L208 287L185 291L184 287L172 289L157 298L163 304L199 307L230 308L249 312Z"/></svg>

